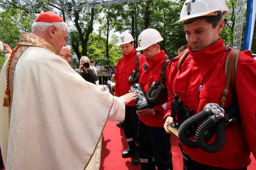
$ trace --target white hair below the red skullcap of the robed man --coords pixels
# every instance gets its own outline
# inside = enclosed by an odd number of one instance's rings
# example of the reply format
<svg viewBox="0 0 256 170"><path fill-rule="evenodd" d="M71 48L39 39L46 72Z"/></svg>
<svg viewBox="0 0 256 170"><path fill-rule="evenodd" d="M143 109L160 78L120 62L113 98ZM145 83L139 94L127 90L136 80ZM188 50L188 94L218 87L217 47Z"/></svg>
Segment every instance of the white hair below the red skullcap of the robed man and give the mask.
<svg viewBox="0 0 256 170"><path fill-rule="evenodd" d="M32 25L32 31L45 31L50 26L55 25L61 31L68 30L68 24L65 22L34 22Z"/></svg>

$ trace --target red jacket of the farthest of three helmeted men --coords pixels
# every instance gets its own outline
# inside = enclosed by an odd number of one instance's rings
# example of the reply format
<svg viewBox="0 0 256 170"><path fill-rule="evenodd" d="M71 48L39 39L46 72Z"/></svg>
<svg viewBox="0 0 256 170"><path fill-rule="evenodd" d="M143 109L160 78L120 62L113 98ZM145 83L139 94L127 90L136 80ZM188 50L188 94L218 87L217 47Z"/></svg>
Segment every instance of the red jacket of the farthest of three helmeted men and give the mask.
<svg viewBox="0 0 256 170"><path fill-rule="evenodd" d="M136 53L137 51L133 48L129 54L124 55L122 59L120 58L117 62L117 68L115 71L115 93L117 97L129 93L132 85L130 82L130 76L132 75L133 70L136 69ZM140 54L139 69L145 61L146 58ZM130 102L127 106L135 106L135 101Z"/></svg>

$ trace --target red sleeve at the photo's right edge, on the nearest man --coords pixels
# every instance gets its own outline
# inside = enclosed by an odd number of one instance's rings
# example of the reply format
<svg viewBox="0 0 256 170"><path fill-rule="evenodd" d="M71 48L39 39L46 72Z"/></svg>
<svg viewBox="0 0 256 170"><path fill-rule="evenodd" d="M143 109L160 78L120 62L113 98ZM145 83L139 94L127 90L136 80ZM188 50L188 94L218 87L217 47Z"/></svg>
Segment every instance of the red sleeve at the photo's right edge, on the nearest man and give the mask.
<svg viewBox="0 0 256 170"><path fill-rule="evenodd" d="M250 53L250 51L240 52L236 72L236 91L244 136L256 158L256 60Z"/></svg>

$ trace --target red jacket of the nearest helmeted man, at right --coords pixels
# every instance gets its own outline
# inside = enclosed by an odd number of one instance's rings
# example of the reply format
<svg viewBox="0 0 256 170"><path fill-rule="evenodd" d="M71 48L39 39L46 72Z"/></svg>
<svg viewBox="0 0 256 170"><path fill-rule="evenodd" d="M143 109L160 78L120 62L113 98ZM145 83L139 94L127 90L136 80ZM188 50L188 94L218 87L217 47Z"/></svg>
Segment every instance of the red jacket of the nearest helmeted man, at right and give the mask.
<svg viewBox="0 0 256 170"><path fill-rule="evenodd" d="M183 106L193 110L194 114L205 109L206 105L216 103L222 107L221 96L225 87L225 62L229 51L225 51L223 40L199 51L191 52L176 71L178 59L173 59L170 77L166 82L169 99L165 117L170 116L173 95L178 94ZM181 144L185 153L201 164L238 169L247 167L250 162L250 150L256 156L256 61L250 51L242 51L236 72L236 90L242 123L234 123L226 128L226 143L217 153L207 153L200 148L191 149ZM199 90L199 87L202 87ZM232 93L226 98L225 108L234 105ZM192 140L194 137L191 138ZM214 141L215 138L212 140Z"/></svg>

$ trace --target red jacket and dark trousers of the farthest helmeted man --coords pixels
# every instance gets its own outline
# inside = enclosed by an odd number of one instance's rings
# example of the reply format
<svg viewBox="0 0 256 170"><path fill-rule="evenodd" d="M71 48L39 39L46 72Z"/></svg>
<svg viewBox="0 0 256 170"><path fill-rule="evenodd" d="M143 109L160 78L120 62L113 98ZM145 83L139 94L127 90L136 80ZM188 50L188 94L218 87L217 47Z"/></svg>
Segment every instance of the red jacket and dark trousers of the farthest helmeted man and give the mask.
<svg viewBox="0 0 256 170"><path fill-rule="evenodd" d="M123 55L117 63L115 71L115 93L117 97L123 96L129 93L131 82L130 77L133 70L136 69L136 53L137 51L133 48L127 55ZM140 54L139 56L139 68L146 61L146 58ZM131 151L138 152L138 115L136 113L135 101L130 102L125 106L125 118L123 121L123 128L126 140Z"/></svg>

